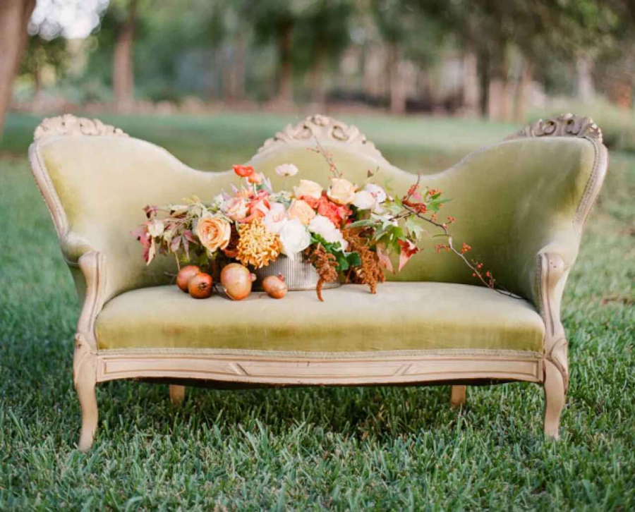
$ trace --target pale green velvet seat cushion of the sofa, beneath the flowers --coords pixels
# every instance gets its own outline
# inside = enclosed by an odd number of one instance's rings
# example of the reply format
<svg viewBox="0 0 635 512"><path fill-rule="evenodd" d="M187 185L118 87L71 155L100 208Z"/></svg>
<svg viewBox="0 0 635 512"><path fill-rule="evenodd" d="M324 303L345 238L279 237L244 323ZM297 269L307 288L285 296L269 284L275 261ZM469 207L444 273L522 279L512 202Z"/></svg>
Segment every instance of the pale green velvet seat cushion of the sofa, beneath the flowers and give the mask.
<svg viewBox="0 0 635 512"><path fill-rule="evenodd" d="M289 292L282 300L252 293L232 302L195 300L176 286L128 291L95 323L99 350L124 348L372 352L443 349L539 353L545 327L526 300L480 286L385 283Z"/></svg>

